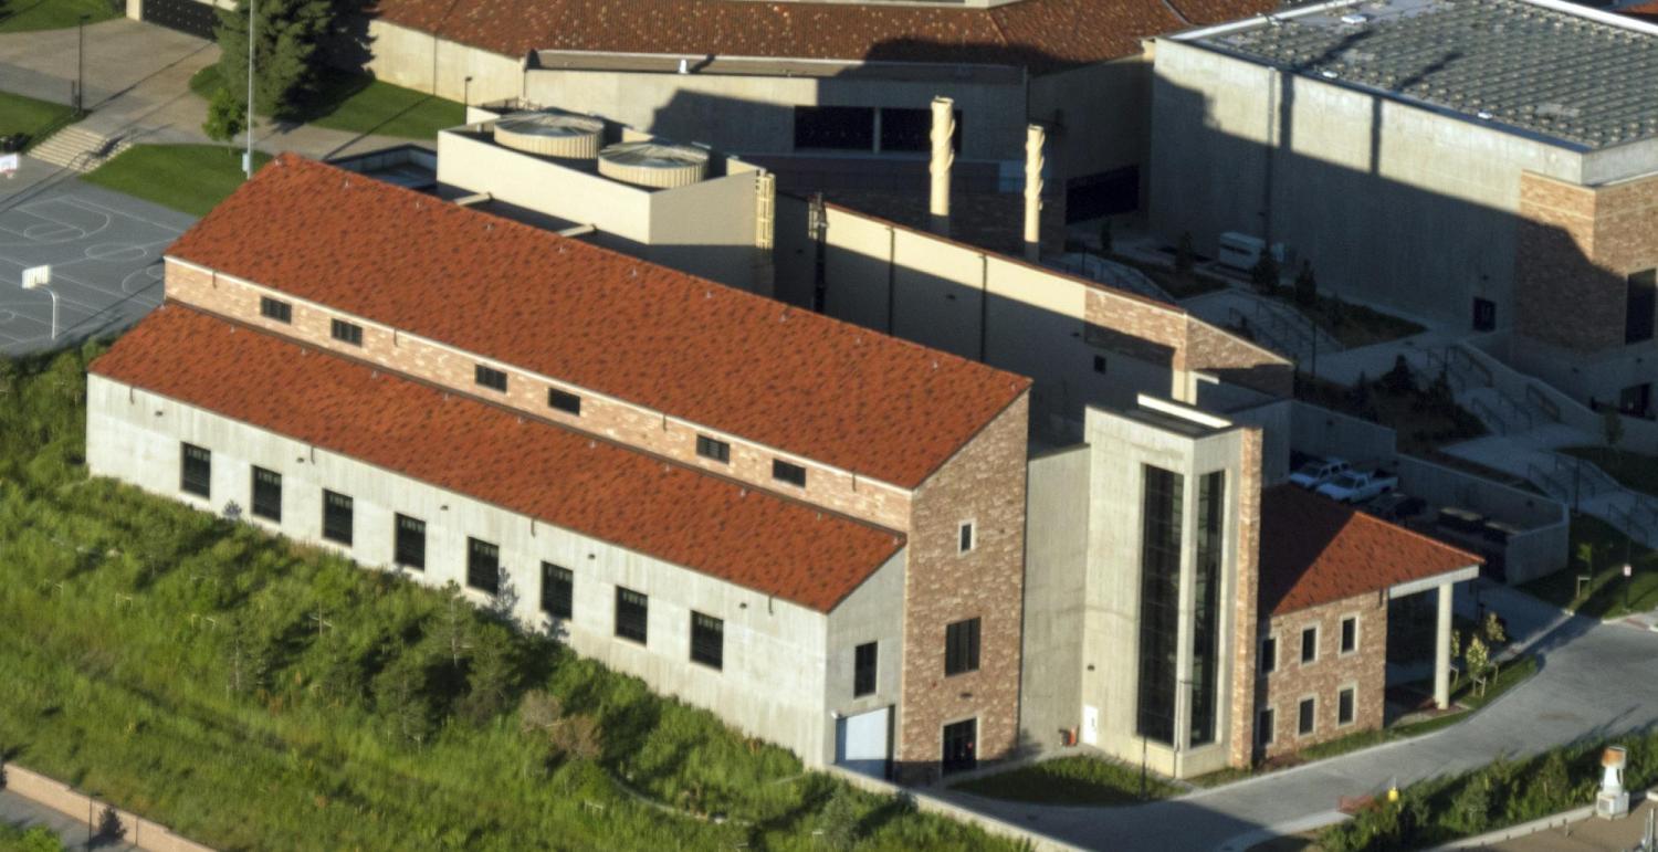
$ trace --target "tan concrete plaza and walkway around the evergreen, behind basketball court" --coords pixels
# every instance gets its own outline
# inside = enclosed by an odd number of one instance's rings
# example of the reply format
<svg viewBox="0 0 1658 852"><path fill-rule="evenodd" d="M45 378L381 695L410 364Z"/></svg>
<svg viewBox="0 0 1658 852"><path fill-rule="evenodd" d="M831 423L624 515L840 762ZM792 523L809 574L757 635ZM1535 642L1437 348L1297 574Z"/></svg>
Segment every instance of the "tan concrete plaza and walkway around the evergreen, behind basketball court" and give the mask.
<svg viewBox="0 0 1658 852"><path fill-rule="evenodd" d="M70 103L76 55L73 27L0 35L0 90ZM207 101L189 90L191 76L219 61L219 46L212 41L116 18L86 28L85 60L85 104L91 114L78 128L139 144L212 143L201 129ZM411 139L269 121L254 131L260 151L295 151L313 159L408 143ZM436 139L414 143L436 146Z"/></svg>

